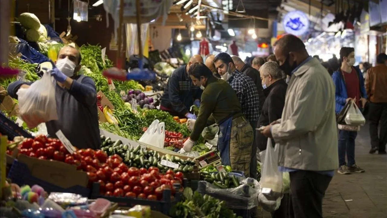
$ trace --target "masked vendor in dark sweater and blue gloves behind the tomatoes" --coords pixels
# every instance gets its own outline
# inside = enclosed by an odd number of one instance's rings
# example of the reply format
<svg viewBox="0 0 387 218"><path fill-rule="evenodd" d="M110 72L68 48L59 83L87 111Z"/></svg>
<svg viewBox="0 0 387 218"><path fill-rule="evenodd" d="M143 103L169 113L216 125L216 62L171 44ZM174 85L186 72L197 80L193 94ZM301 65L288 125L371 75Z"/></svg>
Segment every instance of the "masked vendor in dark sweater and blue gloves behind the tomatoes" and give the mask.
<svg viewBox="0 0 387 218"><path fill-rule="evenodd" d="M80 75L81 56L72 46L63 47L58 53L56 68L49 70L55 84L58 120L46 122L50 137L57 137L62 130L65 137L80 149L99 149L97 92L94 81ZM8 93L17 99L19 88L29 88L32 83L15 81L8 86Z"/></svg>

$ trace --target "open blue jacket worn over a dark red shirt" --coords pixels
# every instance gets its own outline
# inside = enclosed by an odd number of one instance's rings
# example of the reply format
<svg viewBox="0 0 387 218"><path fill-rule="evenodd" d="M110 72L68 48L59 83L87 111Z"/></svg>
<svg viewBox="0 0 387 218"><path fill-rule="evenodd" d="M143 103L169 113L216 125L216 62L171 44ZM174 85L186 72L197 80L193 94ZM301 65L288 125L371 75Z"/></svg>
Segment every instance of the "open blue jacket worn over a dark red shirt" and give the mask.
<svg viewBox="0 0 387 218"><path fill-rule="evenodd" d="M367 99L367 93L365 91L363 74L361 74L361 71L360 71L358 66L356 66L354 68L355 68L356 72L358 73L360 96L362 98ZM343 78L340 70L333 72L332 79L333 79L333 83L335 84L335 87L336 87L336 92L335 92L336 114L338 114L342 110L342 108L344 107L344 105L346 103L346 99L348 99L348 93L347 93L347 88L346 88L345 83L344 83L344 78Z"/></svg>

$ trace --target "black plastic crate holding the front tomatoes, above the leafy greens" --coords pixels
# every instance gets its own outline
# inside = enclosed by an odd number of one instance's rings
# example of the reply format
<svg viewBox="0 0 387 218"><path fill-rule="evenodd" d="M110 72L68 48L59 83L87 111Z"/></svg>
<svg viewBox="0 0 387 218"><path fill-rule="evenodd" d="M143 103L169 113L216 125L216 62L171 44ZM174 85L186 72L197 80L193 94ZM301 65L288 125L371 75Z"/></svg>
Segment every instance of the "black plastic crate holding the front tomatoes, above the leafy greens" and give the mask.
<svg viewBox="0 0 387 218"><path fill-rule="evenodd" d="M180 184L175 184L174 186L176 190L180 189ZM118 203L118 206L121 207L132 208L138 204L146 205L150 206L151 209L154 211L159 211L165 215L168 215L171 207L182 199L182 193L176 192L173 201L171 201L171 190L169 189L165 189L163 191L163 199L161 199L161 201L151 201L148 199L137 199L128 197L101 196L101 194L99 193L99 183L94 182L90 197L92 199L104 198L111 202Z"/></svg>

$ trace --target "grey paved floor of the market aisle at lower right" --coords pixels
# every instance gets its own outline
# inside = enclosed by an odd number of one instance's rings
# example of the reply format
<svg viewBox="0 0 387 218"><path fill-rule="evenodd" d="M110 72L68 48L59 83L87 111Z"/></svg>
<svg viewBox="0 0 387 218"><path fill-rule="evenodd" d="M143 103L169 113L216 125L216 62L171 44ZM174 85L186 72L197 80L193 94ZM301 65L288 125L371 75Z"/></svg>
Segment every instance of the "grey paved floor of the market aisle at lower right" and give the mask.
<svg viewBox="0 0 387 218"><path fill-rule="evenodd" d="M365 173L335 173L323 201L324 218L387 217L387 155L368 154L368 123L356 138L356 163Z"/></svg>

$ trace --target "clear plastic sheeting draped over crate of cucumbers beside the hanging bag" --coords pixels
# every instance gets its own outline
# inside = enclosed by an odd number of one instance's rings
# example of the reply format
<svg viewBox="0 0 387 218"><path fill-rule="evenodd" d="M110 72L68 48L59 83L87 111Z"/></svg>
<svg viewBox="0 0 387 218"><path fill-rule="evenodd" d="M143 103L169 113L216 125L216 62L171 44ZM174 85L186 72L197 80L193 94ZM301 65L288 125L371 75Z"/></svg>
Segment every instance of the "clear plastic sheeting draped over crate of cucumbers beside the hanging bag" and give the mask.
<svg viewBox="0 0 387 218"><path fill-rule="evenodd" d="M231 189L219 189L209 182L199 181L197 191L225 201L230 209L252 209L258 206L259 182L253 178L237 177L240 186ZM248 184L253 184L254 188Z"/></svg>

